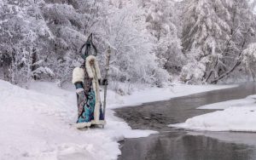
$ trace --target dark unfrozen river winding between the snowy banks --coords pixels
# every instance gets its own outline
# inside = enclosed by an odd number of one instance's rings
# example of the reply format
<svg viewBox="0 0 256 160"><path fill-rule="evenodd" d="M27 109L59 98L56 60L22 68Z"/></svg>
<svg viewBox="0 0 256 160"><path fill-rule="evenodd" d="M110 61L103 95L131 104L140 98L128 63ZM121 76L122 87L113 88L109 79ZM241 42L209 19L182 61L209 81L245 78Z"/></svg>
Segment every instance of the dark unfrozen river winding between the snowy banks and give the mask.
<svg viewBox="0 0 256 160"><path fill-rule="evenodd" d="M256 83L116 109L116 116L123 118L132 129L160 132L120 142L122 155L119 160L256 159L256 133L196 132L167 127L168 124L183 123L189 117L212 112L196 110L199 106L243 99L251 94L256 94Z"/></svg>

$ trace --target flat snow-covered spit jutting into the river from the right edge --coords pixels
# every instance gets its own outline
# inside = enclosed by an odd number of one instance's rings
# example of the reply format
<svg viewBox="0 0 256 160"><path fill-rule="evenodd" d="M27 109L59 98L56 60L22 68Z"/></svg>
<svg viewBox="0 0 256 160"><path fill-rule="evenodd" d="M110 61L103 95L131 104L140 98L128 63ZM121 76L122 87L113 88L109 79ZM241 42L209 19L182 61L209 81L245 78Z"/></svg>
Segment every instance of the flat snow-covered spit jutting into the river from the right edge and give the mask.
<svg viewBox="0 0 256 160"><path fill-rule="evenodd" d="M256 132L256 95L241 100L228 100L201 106L198 109L220 109L201 116L189 118L185 123L170 127L209 131Z"/></svg>

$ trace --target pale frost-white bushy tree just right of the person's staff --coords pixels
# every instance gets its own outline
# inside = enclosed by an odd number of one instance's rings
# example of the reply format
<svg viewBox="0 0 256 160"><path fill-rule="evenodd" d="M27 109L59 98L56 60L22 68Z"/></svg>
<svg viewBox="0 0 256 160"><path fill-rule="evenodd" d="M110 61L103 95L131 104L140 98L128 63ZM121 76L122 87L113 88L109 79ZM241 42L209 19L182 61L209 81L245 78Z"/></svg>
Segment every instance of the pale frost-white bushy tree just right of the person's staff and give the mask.
<svg viewBox="0 0 256 160"><path fill-rule="evenodd" d="M152 53L153 43L145 31L140 13L137 3L131 3L123 5L122 9L115 8L109 20L109 43L115 52L110 75L119 82L160 86L168 81L169 76L158 66L157 58Z"/></svg>

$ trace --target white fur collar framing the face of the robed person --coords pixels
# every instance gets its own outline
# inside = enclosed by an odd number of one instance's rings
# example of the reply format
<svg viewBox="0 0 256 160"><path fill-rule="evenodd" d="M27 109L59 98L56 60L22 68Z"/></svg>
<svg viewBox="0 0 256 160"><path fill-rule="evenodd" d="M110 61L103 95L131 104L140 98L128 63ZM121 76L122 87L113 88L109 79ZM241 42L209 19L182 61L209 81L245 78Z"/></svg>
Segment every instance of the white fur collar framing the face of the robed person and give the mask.
<svg viewBox="0 0 256 160"><path fill-rule="evenodd" d="M90 66L90 60L94 60L94 66ZM94 77L94 72L96 72L97 79L102 79L100 67L99 67L98 62L96 60L96 56L89 55L86 58L86 60L85 60L85 68L86 68L86 71L87 71L88 76L90 78L95 78ZM95 71L93 71L93 70L95 70Z"/></svg>

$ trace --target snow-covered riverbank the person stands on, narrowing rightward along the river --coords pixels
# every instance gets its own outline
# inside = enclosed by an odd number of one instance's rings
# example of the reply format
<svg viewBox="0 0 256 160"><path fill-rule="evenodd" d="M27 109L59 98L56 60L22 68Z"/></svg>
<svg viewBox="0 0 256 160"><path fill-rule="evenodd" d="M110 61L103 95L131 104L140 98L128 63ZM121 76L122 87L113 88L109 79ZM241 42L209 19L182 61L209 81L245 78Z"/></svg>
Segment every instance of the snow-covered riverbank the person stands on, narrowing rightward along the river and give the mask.
<svg viewBox="0 0 256 160"><path fill-rule="evenodd" d="M77 116L74 89L32 83L27 90L0 80L0 159L117 159L119 140L156 132L132 130L111 109L229 87L175 85L127 96L109 90L105 129L80 131L71 125Z"/></svg>

